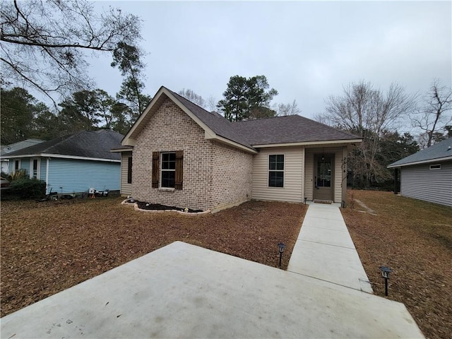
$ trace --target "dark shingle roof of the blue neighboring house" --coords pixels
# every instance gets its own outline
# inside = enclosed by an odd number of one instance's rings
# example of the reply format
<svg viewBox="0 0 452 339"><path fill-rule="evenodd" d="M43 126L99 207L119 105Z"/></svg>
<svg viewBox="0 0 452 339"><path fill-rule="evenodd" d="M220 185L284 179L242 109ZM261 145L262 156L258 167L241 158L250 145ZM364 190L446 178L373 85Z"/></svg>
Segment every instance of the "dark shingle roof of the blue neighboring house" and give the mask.
<svg viewBox="0 0 452 339"><path fill-rule="evenodd" d="M27 155L54 154L73 157L90 157L95 159L121 160L119 153L111 153L112 148L121 146L123 136L115 131L101 129L99 131L80 131L69 136L61 136L44 141L16 152L8 157Z"/></svg>

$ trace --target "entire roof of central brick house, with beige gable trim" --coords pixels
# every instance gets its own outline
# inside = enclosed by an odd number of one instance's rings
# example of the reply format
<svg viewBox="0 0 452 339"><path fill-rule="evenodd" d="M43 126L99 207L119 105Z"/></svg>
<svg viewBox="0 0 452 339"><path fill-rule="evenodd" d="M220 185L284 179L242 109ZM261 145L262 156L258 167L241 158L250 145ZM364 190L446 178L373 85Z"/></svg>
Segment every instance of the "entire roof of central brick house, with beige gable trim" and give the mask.
<svg viewBox="0 0 452 339"><path fill-rule="evenodd" d="M317 121L292 115L249 121L230 122L216 112L208 112L186 98L161 87L121 142L135 145L135 139L165 100L172 100L206 133L207 139L230 143L256 153L254 147L295 143L359 143L362 138L334 129Z"/></svg>

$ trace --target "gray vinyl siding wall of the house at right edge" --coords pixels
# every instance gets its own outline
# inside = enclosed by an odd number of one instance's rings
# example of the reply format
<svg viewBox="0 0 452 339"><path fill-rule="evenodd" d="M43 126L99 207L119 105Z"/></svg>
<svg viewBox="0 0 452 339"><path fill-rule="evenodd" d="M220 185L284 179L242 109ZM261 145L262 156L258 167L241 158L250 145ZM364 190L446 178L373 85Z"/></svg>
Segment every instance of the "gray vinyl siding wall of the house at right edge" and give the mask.
<svg viewBox="0 0 452 339"><path fill-rule="evenodd" d="M430 169L441 164L441 169ZM452 206L452 161L405 166L400 171L400 194Z"/></svg>

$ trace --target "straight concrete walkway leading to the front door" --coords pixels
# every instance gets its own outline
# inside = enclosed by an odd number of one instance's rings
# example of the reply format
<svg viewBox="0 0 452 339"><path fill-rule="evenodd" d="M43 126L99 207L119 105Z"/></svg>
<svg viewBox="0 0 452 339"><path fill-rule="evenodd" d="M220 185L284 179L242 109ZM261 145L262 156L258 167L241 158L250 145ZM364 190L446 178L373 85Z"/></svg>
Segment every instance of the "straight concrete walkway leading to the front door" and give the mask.
<svg viewBox="0 0 452 339"><path fill-rule="evenodd" d="M287 270L373 293L338 206L309 205Z"/></svg>

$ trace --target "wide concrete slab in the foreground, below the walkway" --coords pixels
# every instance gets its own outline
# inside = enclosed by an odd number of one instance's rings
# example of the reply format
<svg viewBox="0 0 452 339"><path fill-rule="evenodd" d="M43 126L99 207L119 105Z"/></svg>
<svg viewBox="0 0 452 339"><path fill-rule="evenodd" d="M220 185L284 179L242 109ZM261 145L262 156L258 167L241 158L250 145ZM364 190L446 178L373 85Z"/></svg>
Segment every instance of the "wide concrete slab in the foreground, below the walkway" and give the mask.
<svg viewBox="0 0 452 339"><path fill-rule="evenodd" d="M175 242L1 319L1 338L424 338L403 304Z"/></svg>

